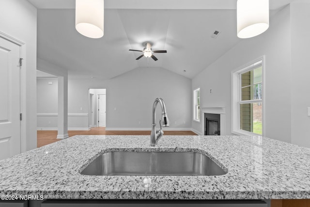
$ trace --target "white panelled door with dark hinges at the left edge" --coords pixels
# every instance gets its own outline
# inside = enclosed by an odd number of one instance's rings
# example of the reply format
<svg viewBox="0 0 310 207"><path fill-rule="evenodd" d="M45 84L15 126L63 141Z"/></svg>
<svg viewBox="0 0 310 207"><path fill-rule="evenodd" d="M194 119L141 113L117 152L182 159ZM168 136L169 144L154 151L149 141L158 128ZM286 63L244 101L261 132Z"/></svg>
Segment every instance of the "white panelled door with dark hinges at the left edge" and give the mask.
<svg viewBox="0 0 310 207"><path fill-rule="evenodd" d="M20 153L20 46L0 37L0 159Z"/></svg>

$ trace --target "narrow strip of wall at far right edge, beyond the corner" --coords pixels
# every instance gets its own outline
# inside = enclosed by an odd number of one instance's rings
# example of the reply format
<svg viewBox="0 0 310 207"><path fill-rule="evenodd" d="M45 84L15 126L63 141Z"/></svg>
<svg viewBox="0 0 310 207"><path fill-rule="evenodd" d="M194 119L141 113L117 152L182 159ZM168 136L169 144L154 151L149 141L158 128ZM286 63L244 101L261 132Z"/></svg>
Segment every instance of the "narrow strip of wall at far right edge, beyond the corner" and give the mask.
<svg viewBox="0 0 310 207"><path fill-rule="evenodd" d="M292 143L310 147L310 1L291 4Z"/></svg>

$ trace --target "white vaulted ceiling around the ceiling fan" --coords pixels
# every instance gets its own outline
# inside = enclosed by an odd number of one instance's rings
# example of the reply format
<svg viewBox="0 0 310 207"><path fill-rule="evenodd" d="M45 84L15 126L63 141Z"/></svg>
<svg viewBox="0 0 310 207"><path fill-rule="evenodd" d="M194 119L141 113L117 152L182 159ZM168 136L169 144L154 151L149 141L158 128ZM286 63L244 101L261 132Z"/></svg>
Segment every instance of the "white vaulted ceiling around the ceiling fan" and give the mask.
<svg viewBox="0 0 310 207"><path fill-rule="evenodd" d="M236 0L106 0L100 39L75 30L75 0L29 1L39 8L37 57L67 69L71 78L110 79L144 66L193 78L242 41L236 36ZM291 1L270 0L270 8ZM142 50L147 41L167 53L155 54L156 62L135 60L141 53L128 49Z"/></svg>

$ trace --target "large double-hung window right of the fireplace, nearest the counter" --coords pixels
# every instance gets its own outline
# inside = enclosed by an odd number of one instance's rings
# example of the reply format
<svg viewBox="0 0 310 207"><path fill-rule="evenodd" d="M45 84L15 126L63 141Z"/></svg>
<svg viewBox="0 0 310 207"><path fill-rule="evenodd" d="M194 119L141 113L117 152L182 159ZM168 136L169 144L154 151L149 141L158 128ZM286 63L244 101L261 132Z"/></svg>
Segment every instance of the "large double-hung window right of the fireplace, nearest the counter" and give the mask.
<svg viewBox="0 0 310 207"><path fill-rule="evenodd" d="M233 133L263 135L263 60L233 72Z"/></svg>

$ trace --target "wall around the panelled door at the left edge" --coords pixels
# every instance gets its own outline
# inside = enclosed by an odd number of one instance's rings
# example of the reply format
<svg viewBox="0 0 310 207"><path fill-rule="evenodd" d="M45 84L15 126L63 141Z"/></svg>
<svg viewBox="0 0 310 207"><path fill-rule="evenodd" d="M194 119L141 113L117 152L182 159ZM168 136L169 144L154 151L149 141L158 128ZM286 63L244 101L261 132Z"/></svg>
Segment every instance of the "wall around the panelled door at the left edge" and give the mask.
<svg viewBox="0 0 310 207"><path fill-rule="evenodd" d="M25 93L24 118L26 150L36 148L36 36L37 10L27 0L0 1L0 31L26 43L23 54L22 93Z"/></svg>

